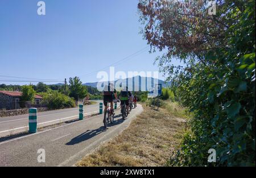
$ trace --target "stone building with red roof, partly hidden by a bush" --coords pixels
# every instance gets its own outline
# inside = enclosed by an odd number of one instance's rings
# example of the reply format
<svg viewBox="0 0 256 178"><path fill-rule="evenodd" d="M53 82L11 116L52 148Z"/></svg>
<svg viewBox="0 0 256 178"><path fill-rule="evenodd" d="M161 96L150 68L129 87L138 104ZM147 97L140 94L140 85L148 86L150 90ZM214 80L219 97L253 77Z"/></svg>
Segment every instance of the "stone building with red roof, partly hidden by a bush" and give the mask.
<svg viewBox="0 0 256 178"><path fill-rule="evenodd" d="M20 109L20 91L0 91L0 109ZM35 105L40 105L42 96L35 95Z"/></svg>

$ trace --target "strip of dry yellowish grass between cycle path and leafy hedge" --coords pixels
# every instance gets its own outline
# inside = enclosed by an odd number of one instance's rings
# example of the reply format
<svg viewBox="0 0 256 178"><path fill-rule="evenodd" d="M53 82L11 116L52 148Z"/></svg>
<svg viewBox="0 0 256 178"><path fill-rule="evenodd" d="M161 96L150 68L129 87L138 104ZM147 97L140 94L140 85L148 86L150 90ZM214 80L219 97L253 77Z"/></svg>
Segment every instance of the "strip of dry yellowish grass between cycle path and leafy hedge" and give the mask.
<svg viewBox="0 0 256 178"><path fill-rule="evenodd" d="M126 130L76 166L164 166L179 144L184 120L170 115L167 109L143 108Z"/></svg>

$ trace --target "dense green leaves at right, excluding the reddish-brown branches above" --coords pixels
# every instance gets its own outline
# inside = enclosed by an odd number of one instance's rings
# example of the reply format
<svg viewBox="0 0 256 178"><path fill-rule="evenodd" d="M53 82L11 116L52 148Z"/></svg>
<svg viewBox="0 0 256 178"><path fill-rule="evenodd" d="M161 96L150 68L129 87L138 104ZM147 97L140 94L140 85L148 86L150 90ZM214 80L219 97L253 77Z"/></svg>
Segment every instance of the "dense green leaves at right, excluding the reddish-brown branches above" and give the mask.
<svg viewBox="0 0 256 178"><path fill-rule="evenodd" d="M213 148L214 166L255 166L255 24L246 20L253 14L248 6L229 29L228 51L207 53L213 66L197 64L189 77L180 75L179 99L195 117L171 165L210 166L206 153Z"/></svg>

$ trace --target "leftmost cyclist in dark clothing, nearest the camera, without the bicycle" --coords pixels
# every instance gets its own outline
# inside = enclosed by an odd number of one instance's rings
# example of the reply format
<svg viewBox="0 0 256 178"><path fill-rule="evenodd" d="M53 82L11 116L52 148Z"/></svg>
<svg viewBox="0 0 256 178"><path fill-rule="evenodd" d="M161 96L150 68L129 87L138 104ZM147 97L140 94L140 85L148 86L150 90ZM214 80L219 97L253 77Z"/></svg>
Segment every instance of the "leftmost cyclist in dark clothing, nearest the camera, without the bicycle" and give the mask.
<svg viewBox="0 0 256 178"><path fill-rule="evenodd" d="M114 96L113 96L114 95ZM103 103L104 103L104 113L108 109L108 103L110 103L110 108L111 111L114 111L113 107L113 98L117 99L117 91L114 88L113 83L109 83L104 87L104 92L103 92Z"/></svg>

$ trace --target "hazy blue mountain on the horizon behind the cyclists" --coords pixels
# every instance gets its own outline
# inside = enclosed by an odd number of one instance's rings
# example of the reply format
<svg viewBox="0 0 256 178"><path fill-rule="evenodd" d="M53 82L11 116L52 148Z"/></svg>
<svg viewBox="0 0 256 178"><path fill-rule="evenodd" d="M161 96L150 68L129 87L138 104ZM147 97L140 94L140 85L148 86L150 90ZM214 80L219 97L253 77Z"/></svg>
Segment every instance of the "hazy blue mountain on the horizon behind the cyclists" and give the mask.
<svg viewBox="0 0 256 178"><path fill-rule="evenodd" d="M141 76L136 76L133 78L126 78L126 79L120 79L120 80L115 80L114 83L116 84L117 82L119 84L121 83L126 83L126 85L128 86L128 82L132 81L133 82L133 90L134 88L139 88L139 91L141 91L141 87L144 85L146 85L146 91L149 91L150 88L152 88L154 86L154 82L156 83L158 80L159 84L162 84L162 87L167 87L171 85L171 82L164 82L163 80L160 79L155 79L152 77L141 77ZM148 82L151 81L151 85L147 84ZM90 87L97 87L98 82L93 82L93 83L84 83L84 86L90 86Z"/></svg>

